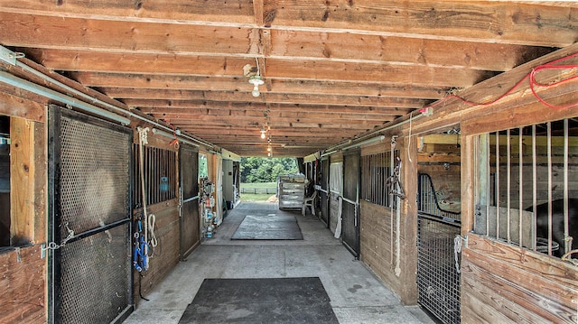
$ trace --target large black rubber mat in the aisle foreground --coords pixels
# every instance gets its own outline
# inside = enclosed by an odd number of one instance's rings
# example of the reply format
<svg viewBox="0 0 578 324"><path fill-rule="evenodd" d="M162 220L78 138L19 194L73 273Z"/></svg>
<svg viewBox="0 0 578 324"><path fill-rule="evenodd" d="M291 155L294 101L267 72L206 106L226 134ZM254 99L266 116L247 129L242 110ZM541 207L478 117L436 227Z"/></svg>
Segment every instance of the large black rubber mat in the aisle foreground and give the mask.
<svg viewBox="0 0 578 324"><path fill-rule="evenodd" d="M339 323L318 277L205 279L179 321Z"/></svg>

